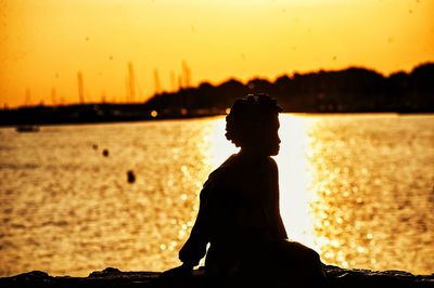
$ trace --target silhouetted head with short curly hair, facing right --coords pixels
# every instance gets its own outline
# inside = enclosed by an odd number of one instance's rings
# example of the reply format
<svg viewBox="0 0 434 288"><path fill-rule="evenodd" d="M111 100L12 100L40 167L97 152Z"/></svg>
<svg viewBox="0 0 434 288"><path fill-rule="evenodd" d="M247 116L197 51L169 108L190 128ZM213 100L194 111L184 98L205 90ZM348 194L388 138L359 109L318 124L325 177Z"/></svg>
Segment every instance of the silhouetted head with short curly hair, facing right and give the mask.
<svg viewBox="0 0 434 288"><path fill-rule="evenodd" d="M281 110L276 100L266 94L237 100L226 117L226 138L242 150L277 155Z"/></svg>

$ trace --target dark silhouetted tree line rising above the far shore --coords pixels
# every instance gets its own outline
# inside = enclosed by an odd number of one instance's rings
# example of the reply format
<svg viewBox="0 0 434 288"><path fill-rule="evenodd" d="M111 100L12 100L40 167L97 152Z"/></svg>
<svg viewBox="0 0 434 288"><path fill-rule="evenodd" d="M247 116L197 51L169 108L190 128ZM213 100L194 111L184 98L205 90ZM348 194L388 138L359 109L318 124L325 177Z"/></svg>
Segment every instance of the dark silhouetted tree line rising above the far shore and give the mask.
<svg viewBox="0 0 434 288"><path fill-rule="evenodd" d="M434 112L434 63L390 76L350 67L283 75L275 81L255 78L246 83L237 79L218 86L203 82L196 88L156 94L145 106L163 115L214 114L250 93L267 93L284 112L293 113Z"/></svg>

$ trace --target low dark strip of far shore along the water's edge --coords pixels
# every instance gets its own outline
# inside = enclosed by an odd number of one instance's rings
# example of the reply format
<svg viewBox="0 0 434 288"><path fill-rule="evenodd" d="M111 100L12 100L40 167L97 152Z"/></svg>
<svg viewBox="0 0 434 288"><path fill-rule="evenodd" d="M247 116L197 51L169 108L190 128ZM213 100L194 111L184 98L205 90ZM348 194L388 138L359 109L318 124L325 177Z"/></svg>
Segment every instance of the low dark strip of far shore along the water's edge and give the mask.
<svg viewBox="0 0 434 288"><path fill-rule="evenodd" d="M203 108L186 108L182 106L153 107L142 103L86 103L61 106L23 106L0 108L0 127L46 126L46 125L79 125L136 122L153 120L196 119L204 117L225 116L228 108L206 106ZM345 115L345 114L397 114L419 115L433 114L433 107L352 107L345 109L326 109L318 107L289 107L283 113L308 115Z"/></svg>

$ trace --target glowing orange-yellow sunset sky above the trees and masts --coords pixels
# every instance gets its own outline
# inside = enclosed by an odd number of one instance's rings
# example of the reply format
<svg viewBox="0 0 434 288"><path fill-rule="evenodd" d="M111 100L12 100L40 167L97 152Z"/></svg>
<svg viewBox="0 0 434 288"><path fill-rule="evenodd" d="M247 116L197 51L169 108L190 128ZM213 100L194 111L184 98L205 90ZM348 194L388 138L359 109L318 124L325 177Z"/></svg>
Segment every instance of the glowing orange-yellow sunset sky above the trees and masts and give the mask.
<svg viewBox="0 0 434 288"><path fill-rule="evenodd" d="M0 106L126 100L192 83L349 65L388 74L434 61L432 0L3 0ZM27 92L26 92L27 91Z"/></svg>

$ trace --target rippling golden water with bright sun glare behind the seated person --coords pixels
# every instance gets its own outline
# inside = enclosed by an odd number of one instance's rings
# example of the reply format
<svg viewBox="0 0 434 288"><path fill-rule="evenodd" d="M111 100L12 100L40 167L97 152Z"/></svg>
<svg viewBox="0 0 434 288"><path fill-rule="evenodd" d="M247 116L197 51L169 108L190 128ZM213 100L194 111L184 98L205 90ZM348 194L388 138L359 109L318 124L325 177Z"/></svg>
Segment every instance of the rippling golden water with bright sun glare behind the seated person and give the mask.
<svg viewBox="0 0 434 288"><path fill-rule="evenodd" d="M434 115L280 121L291 240L327 264L434 273ZM224 117L1 128L0 276L179 265L203 183L237 152Z"/></svg>

